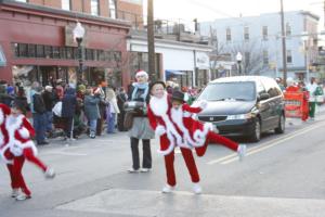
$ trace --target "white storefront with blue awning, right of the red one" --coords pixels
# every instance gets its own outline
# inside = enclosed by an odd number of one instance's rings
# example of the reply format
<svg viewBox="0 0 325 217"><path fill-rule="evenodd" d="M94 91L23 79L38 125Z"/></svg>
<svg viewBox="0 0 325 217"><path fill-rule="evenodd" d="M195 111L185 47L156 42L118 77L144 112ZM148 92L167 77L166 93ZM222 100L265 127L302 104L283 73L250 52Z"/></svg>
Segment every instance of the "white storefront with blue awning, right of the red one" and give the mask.
<svg viewBox="0 0 325 217"><path fill-rule="evenodd" d="M128 50L146 52L145 37L131 36ZM211 47L174 40L155 39L156 60L159 61L159 76L172 80L180 87L204 86L209 81L209 55ZM157 65L157 64L156 64Z"/></svg>

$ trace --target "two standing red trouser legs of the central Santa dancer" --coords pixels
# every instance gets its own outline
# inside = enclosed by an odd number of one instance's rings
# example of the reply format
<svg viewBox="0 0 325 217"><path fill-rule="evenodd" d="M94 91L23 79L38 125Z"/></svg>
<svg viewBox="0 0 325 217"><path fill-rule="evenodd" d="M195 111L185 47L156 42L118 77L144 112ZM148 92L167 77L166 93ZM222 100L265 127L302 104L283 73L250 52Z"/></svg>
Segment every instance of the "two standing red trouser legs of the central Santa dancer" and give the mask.
<svg viewBox="0 0 325 217"><path fill-rule="evenodd" d="M188 169L188 173L191 175L192 182L199 182L199 176L196 168L196 164L192 154L192 150L180 148L183 158L185 161L186 167ZM170 154L165 155L165 167L166 167L166 174L167 174L167 183L169 186L176 186L176 175L174 175L174 151L172 151Z"/></svg>

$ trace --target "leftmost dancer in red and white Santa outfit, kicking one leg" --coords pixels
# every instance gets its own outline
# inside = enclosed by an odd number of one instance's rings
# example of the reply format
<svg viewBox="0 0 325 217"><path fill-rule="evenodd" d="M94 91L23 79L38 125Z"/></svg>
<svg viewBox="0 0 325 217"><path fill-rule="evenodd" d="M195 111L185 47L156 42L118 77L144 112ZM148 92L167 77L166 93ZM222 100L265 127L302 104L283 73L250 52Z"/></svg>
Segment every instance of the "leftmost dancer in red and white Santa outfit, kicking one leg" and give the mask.
<svg viewBox="0 0 325 217"><path fill-rule="evenodd" d="M5 119L5 129L8 131L9 142L4 148L4 158L12 165L9 166L12 189L12 196L17 201L31 197L31 192L27 188L22 169L25 159L34 163L43 170L46 178L54 178L55 173L52 168L46 166L37 157L37 148L31 141L35 130L27 118L22 114L23 108L14 106L11 114ZM22 192L20 192L20 190Z"/></svg>

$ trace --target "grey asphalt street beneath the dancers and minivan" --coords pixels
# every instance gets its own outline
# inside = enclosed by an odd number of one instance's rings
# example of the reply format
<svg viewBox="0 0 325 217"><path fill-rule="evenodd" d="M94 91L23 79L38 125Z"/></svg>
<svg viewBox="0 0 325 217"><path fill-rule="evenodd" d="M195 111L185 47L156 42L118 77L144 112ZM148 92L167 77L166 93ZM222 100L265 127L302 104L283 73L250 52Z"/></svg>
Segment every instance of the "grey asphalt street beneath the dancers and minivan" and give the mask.
<svg viewBox="0 0 325 217"><path fill-rule="evenodd" d="M324 105L323 105L324 106ZM177 150L178 186L162 194L164 158L152 143L153 170L128 174L131 151L126 132L96 139L86 136L67 146L55 139L39 149L40 157L56 170L46 180L30 163L26 182L32 199L10 197L8 171L0 167L0 216L325 216L325 112L316 120L287 119L286 132L247 143L247 156L210 144L196 157L203 194L192 193L190 175Z"/></svg>

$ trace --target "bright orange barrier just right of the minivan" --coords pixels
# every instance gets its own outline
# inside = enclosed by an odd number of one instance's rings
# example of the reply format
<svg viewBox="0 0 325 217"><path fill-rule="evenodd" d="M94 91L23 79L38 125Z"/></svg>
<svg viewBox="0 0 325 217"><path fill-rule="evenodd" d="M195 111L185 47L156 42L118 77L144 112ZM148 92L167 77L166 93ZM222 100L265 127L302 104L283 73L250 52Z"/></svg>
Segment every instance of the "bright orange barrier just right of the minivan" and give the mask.
<svg viewBox="0 0 325 217"><path fill-rule="evenodd" d="M308 92L287 91L284 93L286 117L308 118Z"/></svg>

